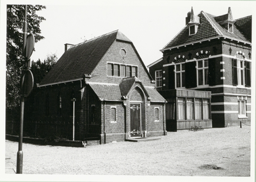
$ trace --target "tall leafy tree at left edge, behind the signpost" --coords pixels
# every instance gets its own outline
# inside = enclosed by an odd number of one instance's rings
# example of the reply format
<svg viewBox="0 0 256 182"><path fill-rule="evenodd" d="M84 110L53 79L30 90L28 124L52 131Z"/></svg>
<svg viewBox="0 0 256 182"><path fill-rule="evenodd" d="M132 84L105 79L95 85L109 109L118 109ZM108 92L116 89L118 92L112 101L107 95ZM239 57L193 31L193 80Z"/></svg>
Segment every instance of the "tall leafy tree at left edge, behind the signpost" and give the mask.
<svg viewBox="0 0 256 182"><path fill-rule="evenodd" d="M44 17L36 15L36 11L45 9L42 5L27 6L28 32L35 36L35 43L42 40L40 23ZM19 108L20 75L24 66L22 58L24 5L7 5L7 36L6 36L6 108Z"/></svg>

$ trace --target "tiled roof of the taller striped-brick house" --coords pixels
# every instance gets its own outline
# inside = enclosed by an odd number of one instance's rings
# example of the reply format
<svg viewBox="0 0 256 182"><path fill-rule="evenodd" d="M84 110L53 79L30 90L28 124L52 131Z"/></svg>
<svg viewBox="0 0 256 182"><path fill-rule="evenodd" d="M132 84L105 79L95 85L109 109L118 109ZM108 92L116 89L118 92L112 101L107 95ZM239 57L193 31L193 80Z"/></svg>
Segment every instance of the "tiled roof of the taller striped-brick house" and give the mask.
<svg viewBox="0 0 256 182"><path fill-rule="evenodd" d="M238 24L234 24L234 33L230 33L225 27L218 24L216 16L201 11L198 15L200 17L200 25L196 34L189 35L189 26L184 27L162 50L171 49L173 47L179 47L179 45L186 45L189 43L200 42L202 40L208 40L217 37L232 38L250 43L250 39L239 31ZM219 19L232 19L229 14L217 17ZM250 27L252 29L252 26Z"/></svg>

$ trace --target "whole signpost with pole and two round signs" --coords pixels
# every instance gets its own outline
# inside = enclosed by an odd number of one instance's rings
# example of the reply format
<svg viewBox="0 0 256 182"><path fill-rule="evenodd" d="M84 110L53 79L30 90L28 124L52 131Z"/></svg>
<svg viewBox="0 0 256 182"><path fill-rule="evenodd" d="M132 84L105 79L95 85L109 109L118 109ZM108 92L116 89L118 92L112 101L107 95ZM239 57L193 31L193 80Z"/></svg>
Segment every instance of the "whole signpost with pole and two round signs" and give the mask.
<svg viewBox="0 0 256 182"><path fill-rule="evenodd" d="M24 34L23 34L23 56L25 58L25 70L20 78L20 133L19 133L19 151L17 152L17 174L22 174L23 167L23 122L24 122L24 98L29 96L33 90L34 78L31 67L30 56L33 53L35 46L35 37L33 34L27 36L27 5L25 5L25 20L24 20Z"/></svg>

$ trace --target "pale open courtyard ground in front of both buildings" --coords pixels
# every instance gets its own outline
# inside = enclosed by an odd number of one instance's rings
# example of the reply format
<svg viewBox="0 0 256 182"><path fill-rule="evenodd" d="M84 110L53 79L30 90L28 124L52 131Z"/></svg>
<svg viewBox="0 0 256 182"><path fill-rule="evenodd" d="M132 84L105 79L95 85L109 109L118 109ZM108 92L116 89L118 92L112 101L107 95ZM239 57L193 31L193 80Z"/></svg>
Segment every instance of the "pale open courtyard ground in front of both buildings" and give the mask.
<svg viewBox="0 0 256 182"><path fill-rule="evenodd" d="M250 176L250 126L168 132L159 140L71 148L23 144L23 174ZM18 142L6 140L6 174Z"/></svg>

